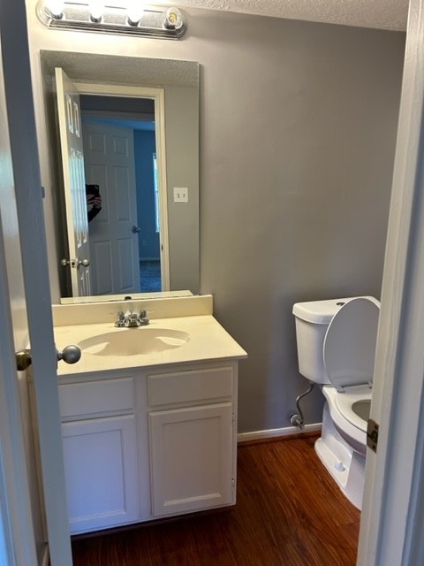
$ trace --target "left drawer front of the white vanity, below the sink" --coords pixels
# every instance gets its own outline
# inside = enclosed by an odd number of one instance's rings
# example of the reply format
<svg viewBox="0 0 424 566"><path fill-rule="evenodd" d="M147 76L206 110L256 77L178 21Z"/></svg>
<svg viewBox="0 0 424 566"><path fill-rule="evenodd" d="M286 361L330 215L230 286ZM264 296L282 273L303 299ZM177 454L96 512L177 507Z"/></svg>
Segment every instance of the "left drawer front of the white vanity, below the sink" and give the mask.
<svg viewBox="0 0 424 566"><path fill-rule="evenodd" d="M61 417L84 417L134 409L134 379L103 379L59 385Z"/></svg>

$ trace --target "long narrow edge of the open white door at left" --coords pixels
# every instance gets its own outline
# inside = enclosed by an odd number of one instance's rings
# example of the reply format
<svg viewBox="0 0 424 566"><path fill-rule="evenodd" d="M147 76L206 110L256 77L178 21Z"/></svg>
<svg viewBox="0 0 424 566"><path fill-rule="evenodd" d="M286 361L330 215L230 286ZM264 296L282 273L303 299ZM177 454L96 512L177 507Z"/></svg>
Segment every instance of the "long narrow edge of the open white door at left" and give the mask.
<svg viewBox="0 0 424 566"><path fill-rule="evenodd" d="M11 27L9 22L13 21ZM52 566L71 566L46 234L24 0L0 3L4 92ZM19 65L16 65L19 57ZM25 140L25 144L22 142ZM20 258L17 258L20 261ZM5 335L10 328L6 328ZM13 356L12 356L13 357ZM13 368L16 379L16 368ZM24 547L25 547L24 542ZM29 543L28 543L29 544ZM19 562L19 566L27 562ZM34 564L36 562L29 562Z"/></svg>

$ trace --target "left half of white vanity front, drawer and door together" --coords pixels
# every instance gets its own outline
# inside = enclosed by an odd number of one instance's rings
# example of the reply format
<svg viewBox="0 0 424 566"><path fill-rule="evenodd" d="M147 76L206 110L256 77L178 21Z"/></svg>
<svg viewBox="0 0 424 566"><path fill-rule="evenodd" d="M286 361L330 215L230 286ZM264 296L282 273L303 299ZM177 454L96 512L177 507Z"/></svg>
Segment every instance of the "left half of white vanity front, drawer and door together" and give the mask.
<svg viewBox="0 0 424 566"><path fill-rule="evenodd" d="M59 385L71 532L132 523L139 517L134 377L77 379Z"/></svg>

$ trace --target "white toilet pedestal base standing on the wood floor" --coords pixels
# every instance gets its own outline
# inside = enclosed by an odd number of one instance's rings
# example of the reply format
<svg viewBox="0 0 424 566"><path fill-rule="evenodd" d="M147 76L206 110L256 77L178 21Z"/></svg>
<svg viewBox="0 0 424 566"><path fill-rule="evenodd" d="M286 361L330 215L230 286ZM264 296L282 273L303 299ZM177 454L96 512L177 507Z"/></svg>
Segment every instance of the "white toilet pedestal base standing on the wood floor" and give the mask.
<svg viewBox="0 0 424 566"><path fill-rule="evenodd" d="M340 436L329 416L326 402L322 414L322 434L315 441L315 452L351 503L362 509L365 484L365 456L353 450Z"/></svg>

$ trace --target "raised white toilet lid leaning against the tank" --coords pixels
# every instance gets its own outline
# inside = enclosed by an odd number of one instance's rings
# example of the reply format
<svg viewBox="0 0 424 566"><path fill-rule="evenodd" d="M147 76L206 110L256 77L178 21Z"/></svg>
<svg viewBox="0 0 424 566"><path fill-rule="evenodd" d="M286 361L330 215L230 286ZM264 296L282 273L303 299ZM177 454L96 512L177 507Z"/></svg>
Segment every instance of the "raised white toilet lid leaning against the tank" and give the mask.
<svg viewBox="0 0 424 566"><path fill-rule="evenodd" d="M331 319L323 357L329 380L337 389L373 381L379 314L378 301L357 297Z"/></svg>

